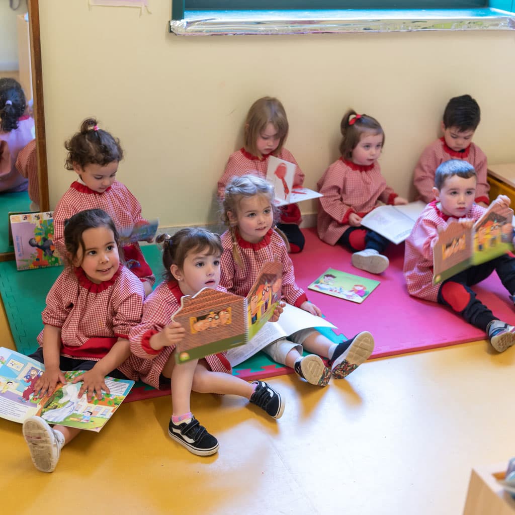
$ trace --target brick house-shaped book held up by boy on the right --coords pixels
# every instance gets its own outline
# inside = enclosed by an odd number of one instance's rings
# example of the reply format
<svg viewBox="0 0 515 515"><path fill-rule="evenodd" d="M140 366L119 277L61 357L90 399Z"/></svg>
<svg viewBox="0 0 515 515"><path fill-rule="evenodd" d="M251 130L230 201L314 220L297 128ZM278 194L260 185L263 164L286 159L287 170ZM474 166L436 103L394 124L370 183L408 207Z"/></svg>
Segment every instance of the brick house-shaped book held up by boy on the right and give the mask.
<svg viewBox="0 0 515 515"><path fill-rule="evenodd" d="M433 247L433 284L513 250L513 210L492 202L475 224L452 221Z"/></svg>

